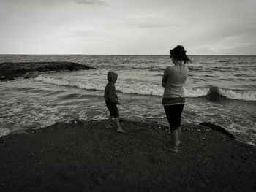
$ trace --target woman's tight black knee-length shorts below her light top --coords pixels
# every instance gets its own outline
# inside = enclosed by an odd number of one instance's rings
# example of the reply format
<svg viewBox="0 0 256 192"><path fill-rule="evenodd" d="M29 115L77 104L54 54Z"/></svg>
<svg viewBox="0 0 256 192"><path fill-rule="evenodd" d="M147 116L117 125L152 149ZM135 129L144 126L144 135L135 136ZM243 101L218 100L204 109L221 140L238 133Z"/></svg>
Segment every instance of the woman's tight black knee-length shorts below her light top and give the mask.
<svg viewBox="0 0 256 192"><path fill-rule="evenodd" d="M165 114L170 124L170 131L175 131L181 126L181 114L184 104L164 105Z"/></svg>

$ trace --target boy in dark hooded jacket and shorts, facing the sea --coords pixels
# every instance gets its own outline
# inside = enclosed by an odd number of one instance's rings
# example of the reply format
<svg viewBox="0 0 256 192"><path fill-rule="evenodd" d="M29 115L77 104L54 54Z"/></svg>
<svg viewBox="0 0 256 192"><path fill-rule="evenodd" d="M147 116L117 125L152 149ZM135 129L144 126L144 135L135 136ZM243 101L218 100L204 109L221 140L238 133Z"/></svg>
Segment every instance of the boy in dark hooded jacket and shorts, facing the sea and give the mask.
<svg viewBox="0 0 256 192"><path fill-rule="evenodd" d="M119 111L118 111L118 108L116 107L116 104L120 104L120 102L118 101L118 96L116 95L116 87L115 87L117 76L118 74L114 72L108 72L108 84L105 87L104 97L105 97L106 105L110 112L110 116L108 118L108 123L106 128L111 127L110 122L114 117L116 121L116 126L117 126L116 131L124 133L125 132L124 129L121 129L119 124Z"/></svg>

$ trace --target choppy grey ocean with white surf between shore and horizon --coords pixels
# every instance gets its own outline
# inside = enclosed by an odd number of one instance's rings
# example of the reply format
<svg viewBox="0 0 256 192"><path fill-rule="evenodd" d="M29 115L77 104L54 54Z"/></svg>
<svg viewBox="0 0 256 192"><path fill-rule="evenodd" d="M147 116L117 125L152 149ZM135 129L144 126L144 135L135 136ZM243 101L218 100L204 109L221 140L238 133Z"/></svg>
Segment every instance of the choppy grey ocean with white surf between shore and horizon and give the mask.
<svg viewBox="0 0 256 192"><path fill-rule="evenodd" d="M256 56L190 58L182 123L211 122L256 145ZM103 98L108 71L118 73L121 118L167 122L162 74L173 65L168 55L0 55L0 63L24 61L72 61L96 69L41 72L36 78L0 82L0 137L75 118L108 118Z"/></svg>

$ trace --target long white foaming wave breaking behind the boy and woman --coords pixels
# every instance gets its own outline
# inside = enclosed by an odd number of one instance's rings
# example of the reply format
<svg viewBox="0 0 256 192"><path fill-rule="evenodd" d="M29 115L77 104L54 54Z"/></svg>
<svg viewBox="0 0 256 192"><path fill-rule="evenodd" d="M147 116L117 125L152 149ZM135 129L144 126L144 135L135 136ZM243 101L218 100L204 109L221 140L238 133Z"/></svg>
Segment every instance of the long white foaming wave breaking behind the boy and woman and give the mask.
<svg viewBox="0 0 256 192"><path fill-rule="evenodd" d="M66 85L71 87L104 91L105 80L74 80L62 77L45 77L39 75L36 78L37 81L50 83L53 85ZM212 89L214 88L214 89ZM139 95L152 95L162 96L163 88L159 85L152 85L146 82L132 82L127 83L127 80L118 81L116 89L121 93L132 93ZM200 97L211 94L217 94L219 96L225 96L228 99L237 99L242 101L256 101L256 91L251 90L234 90L217 87L199 87L199 88L184 88L185 96L187 97Z"/></svg>

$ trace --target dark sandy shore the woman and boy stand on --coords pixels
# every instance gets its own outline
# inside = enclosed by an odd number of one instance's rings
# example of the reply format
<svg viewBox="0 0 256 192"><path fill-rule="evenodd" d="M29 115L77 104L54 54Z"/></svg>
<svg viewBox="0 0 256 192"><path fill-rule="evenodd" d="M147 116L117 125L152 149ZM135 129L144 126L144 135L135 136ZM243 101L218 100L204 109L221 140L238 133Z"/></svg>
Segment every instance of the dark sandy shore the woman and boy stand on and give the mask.
<svg viewBox="0 0 256 192"><path fill-rule="evenodd" d="M179 153L154 123L59 123L0 140L0 191L255 191L256 152L205 126L183 127Z"/></svg>

